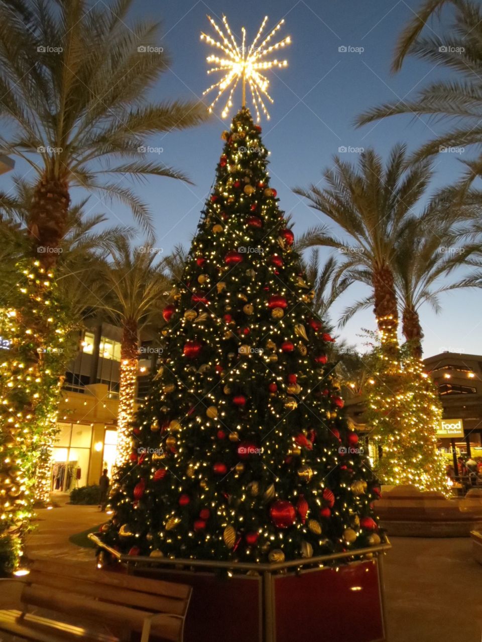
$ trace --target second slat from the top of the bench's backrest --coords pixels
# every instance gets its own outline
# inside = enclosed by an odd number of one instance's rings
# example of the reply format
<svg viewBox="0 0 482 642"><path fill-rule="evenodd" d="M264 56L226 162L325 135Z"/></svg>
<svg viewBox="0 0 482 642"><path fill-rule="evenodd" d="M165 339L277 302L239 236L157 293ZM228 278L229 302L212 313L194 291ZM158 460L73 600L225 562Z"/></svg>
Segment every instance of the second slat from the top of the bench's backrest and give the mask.
<svg viewBox="0 0 482 642"><path fill-rule="evenodd" d="M66 588L66 580L64 577L35 570L30 571L26 582L28 584L38 584L39 586L49 586L53 589L64 590ZM67 589L71 593L99 598L102 602L139 607L140 609L153 612L158 611L161 613L183 615L186 608L186 602L184 602L184 600L166 598L161 595L152 595L151 593L141 593L140 591L129 591L129 589L123 589L118 586L106 586L105 584L96 584L95 582L85 582L83 578L76 578L75 582L70 582Z"/></svg>

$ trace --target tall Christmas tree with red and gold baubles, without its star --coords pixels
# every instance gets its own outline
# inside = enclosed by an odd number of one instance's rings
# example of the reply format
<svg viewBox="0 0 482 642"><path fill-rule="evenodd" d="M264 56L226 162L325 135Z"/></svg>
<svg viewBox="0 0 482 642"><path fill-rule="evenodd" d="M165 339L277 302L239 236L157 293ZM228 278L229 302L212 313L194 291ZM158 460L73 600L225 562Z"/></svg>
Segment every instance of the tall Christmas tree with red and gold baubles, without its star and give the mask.
<svg viewBox="0 0 482 642"><path fill-rule="evenodd" d="M379 485L343 418L294 236L242 108L118 471L103 541L132 555L260 562L380 542Z"/></svg>

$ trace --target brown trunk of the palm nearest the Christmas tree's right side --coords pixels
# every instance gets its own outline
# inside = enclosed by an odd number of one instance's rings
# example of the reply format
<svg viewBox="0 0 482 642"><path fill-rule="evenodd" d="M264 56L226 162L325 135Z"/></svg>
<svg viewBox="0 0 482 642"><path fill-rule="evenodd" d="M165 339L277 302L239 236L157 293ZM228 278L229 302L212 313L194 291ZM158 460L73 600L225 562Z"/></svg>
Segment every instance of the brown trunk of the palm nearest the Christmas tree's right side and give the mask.
<svg viewBox="0 0 482 642"><path fill-rule="evenodd" d="M377 318L382 348L387 352L395 352L398 348L398 308L393 272L387 265L382 265L373 269L371 279L375 298L373 311Z"/></svg>

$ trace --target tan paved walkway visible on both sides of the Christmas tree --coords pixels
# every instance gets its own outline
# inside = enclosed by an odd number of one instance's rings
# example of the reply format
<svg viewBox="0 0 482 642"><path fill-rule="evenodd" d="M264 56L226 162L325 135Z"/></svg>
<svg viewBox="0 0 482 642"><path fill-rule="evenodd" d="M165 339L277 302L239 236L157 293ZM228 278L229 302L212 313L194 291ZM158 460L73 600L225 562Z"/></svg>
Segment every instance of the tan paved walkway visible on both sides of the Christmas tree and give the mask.
<svg viewBox="0 0 482 642"><path fill-rule="evenodd" d="M98 507L69 505L39 510L27 551L32 557L68 557L94 563L94 550L69 536L107 519ZM467 538L394 537L384 557L388 642L481 642L482 566ZM337 642L337 641L333 641Z"/></svg>

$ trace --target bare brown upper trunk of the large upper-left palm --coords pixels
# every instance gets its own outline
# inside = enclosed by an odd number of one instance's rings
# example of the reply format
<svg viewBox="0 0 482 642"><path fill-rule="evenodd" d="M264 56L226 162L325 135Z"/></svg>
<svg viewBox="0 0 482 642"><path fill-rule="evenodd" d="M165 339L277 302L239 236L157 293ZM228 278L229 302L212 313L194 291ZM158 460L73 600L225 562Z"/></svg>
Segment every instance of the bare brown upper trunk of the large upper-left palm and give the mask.
<svg viewBox="0 0 482 642"><path fill-rule="evenodd" d="M42 267L57 263L58 246L64 236L70 205L66 181L43 177L33 193L28 231L33 239L33 253Z"/></svg>

